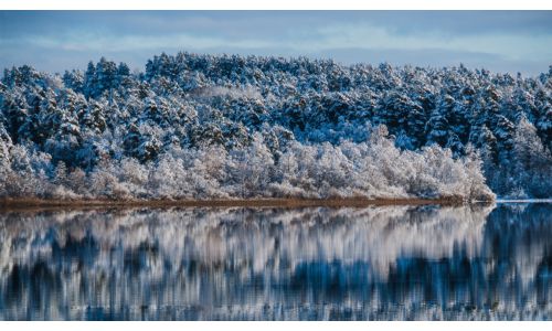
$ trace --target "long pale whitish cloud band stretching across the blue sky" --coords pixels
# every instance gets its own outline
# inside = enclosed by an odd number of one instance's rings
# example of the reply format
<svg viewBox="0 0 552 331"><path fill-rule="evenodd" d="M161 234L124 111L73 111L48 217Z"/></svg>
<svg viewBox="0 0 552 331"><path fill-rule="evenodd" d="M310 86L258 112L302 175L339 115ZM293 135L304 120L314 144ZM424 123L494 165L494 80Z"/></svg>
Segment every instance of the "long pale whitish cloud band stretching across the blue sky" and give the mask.
<svg viewBox="0 0 552 331"><path fill-rule="evenodd" d="M499 55L505 60L548 61L552 58L552 35L481 33L456 36L438 31L395 33L383 26L370 24L333 24L312 26L310 30L288 34L287 39L224 38L224 35L197 35L171 33L159 35L110 34L73 31L61 35L26 36L3 40L0 44L29 43L45 49L63 51L131 52L163 49L287 49L297 53L312 53L328 49L365 50L445 50Z"/></svg>

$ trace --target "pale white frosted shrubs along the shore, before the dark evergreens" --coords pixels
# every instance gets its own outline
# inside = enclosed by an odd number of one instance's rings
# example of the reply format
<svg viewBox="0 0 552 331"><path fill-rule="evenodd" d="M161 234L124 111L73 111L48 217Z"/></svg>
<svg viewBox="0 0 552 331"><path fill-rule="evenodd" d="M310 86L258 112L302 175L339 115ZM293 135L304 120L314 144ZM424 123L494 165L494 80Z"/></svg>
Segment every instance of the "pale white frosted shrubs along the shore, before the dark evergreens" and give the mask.
<svg viewBox="0 0 552 331"><path fill-rule="evenodd" d="M103 159L93 171L54 169L44 153L15 147L4 162L2 196L46 199L243 199L243 197L454 197L492 200L481 161L470 152L453 159L436 145L418 152L395 147L379 127L365 142L293 141L278 153L261 134L248 147L173 146L157 161Z"/></svg>

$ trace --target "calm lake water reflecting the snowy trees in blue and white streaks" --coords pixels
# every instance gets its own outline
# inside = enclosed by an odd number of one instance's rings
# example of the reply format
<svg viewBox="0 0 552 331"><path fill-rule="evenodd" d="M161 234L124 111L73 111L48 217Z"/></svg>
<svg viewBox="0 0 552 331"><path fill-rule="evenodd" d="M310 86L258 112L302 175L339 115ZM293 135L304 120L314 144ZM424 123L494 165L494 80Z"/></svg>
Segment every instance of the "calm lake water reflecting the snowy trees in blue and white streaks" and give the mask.
<svg viewBox="0 0 552 331"><path fill-rule="evenodd" d="M0 213L0 320L551 320L552 204Z"/></svg>

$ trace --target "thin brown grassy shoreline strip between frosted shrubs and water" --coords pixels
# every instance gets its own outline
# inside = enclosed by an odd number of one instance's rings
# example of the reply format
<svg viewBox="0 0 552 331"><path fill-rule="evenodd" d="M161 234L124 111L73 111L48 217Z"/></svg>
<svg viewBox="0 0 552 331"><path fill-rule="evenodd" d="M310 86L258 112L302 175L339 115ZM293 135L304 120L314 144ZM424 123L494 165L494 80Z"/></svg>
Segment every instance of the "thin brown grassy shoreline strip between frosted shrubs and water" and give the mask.
<svg viewBox="0 0 552 331"><path fill-rule="evenodd" d="M474 202L471 202L474 203ZM479 202L477 202L479 203ZM482 202L492 203L492 202ZM49 200L0 199L0 211L34 207L363 207L373 205L463 205L470 204L456 196L439 199L401 197L331 197L331 199L213 199L213 200Z"/></svg>

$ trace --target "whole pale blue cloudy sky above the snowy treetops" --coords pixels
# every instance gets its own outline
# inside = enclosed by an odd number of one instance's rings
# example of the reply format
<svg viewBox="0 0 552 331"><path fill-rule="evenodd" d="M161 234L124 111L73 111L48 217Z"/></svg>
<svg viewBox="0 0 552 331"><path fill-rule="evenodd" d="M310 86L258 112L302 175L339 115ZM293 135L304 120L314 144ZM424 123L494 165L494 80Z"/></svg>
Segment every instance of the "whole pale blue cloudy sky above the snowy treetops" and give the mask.
<svg viewBox="0 0 552 331"><path fill-rule="evenodd" d="M534 76L552 65L552 11L0 11L0 68L144 71L179 51Z"/></svg>

